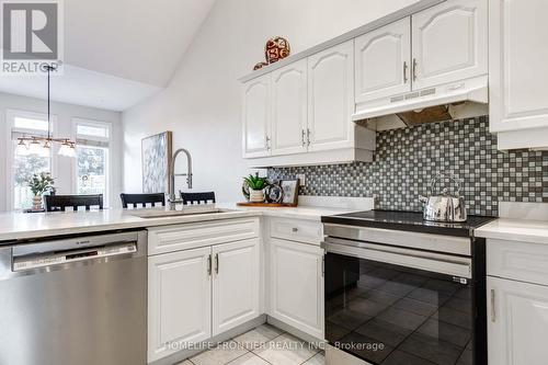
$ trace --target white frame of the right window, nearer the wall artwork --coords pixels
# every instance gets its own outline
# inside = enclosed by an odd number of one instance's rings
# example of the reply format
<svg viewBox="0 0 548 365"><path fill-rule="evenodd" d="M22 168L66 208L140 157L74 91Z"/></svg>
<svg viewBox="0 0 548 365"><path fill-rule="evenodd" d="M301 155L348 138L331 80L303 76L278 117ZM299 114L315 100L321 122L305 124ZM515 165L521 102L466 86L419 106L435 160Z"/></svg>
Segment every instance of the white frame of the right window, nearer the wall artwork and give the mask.
<svg viewBox="0 0 548 365"><path fill-rule="evenodd" d="M107 153L106 153L106 178L105 178L105 193L103 194L103 202L104 206L109 207L111 203L111 194L113 192L113 179L112 179L112 173L113 173L113 168L112 168L112 123L111 122L104 122L104 121L95 121L95 119L90 119L90 118L84 118L84 117L72 117L71 118L71 128L72 128L72 135L76 141L76 147L78 148L78 126L83 125L83 126L90 126L90 127L101 127L101 128L106 128L109 133L109 137L98 137L98 136L88 136L85 135L85 140L90 141L98 141L102 144L107 144L106 148ZM83 135L82 135L83 137ZM87 145L80 145L80 146L87 146ZM96 146L91 146L91 147L96 147ZM72 161L72 191L77 193L78 190L78 152L77 157Z"/></svg>

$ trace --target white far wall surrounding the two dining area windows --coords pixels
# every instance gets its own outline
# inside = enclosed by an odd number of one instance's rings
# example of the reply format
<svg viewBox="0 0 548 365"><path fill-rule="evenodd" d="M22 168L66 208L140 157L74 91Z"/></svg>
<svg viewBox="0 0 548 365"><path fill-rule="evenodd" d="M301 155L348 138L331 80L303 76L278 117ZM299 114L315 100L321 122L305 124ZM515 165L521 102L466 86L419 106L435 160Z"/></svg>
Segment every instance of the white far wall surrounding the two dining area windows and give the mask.
<svg viewBox="0 0 548 365"><path fill-rule="evenodd" d="M83 87L83 85L82 85ZM47 113L47 102L41 99L20 96L14 94L0 93L0 210L9 210L8 207L8 166L7 156L8 149L11 148L10 136L8 130L7 111L19 110L34 113ZM55 136L69 136L73 138L72 118L81 117L100 122L110 122L112 124L112 189L111 203L119 205L119 191L122 185L122 163L121 163L121 136L122 136L122 118L121 113L111 112L100 109L92 109L65 103L52 103L52 114L56 116ZM73 160L70 158L59 158L58 164L54 167L54 178L56 178L56 187L58 194L73 193L72 181L75 175ZM5 193L4 193L5 192Z"/></svg>

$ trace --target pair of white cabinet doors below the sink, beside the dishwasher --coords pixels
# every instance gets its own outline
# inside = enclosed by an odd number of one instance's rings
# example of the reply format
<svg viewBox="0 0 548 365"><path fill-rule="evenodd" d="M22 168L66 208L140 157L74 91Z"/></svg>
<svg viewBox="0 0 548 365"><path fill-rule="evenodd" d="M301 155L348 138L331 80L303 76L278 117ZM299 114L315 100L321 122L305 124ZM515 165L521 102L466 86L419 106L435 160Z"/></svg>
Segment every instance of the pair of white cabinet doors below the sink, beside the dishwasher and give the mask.
<svg viewBox="0 0 548 365"><path fill-rule="evenodd" d="M174 228L152 235L168 231L174 233ZM217 242L219 237L210 233L209 239ZM260 277L259 237L150 255L148 362L262 315Z"/></svg>

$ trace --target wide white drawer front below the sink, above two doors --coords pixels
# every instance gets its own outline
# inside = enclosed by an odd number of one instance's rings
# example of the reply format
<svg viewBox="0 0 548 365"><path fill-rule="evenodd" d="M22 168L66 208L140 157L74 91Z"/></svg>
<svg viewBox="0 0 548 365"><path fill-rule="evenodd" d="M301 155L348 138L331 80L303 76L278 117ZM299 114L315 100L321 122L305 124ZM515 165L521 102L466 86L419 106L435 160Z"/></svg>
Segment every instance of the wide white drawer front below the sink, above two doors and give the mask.
<svg viewBox="0 0 548 365"><path fill-rule="evenodd" d="M187 250L259 237L259 218L222 219L148 229L148 254Z"/></svg>

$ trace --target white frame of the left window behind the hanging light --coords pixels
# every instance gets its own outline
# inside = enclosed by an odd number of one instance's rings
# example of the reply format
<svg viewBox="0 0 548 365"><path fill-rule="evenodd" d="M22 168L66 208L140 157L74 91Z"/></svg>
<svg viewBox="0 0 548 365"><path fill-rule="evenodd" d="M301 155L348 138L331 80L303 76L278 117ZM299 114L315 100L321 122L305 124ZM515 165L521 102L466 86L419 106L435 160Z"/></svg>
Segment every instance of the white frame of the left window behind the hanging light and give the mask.
<svg viewBox="0 0 548 365"><path fill-rule="evenodd" d="M15 161L15 153L14 153L14 148L13 148L13 142L14 140L12 139L12 132L13 128L15 127L15 118L16 117L25 117L25 118L32 118L32 119L43 119L47 121L47 114L46 113L37 113L37 112L32 112L32 111L24 111L24 110L14 110L14 109L8 109L5 111L5 204L8 205L8 210L15 210L15 212L21 212L22 209L15 208L13 206L14 204L14 198L13 198L13 191L14 191L14 185L13 185L13 163ZM52 123L52 134L54 130L57 128L57 115L50 115L50 123ZM38 132L37 129L19 129L19 130L24 130L25 133L33 134ZM39 132L42 133L42 132ZM50 173L52 176L57 175L57 160L56 156L54 153L54 149L50 150L49 152L49 167L50 167Z"/></svg>

